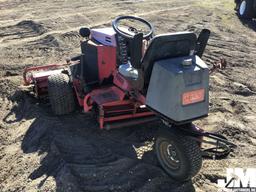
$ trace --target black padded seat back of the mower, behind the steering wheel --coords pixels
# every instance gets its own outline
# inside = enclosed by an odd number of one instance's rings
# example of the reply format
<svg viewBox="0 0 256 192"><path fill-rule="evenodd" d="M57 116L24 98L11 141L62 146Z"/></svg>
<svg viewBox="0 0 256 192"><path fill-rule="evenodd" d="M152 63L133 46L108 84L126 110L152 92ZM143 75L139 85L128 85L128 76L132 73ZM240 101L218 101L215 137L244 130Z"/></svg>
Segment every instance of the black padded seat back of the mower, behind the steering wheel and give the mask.
<svg viewBox="0 0 256 192"><path fill-rule="evenodd" d="M155 36L142 59L144 88L147 89L154 62L161 59L194 54L197 36L191 32L170 33Z"/></svg>

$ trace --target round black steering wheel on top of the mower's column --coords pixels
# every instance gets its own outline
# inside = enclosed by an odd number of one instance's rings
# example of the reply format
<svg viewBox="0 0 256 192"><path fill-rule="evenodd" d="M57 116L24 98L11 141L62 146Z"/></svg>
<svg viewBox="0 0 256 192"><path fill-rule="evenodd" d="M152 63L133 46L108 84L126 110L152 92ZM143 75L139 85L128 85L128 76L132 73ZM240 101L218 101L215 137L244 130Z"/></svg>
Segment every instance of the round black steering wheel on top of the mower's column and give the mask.
<svg viewBox="0 0 256 192"><path fill-rule="evenodd" d="M122 29L121 27L119 27L119 24L120 24L120 21L123 21L123 20L139 21L140 23L145 25L149 29L149 32L148 33L143 33L143 39L148 40L153 36L153 33L154 33L153 26L151 25L151 23L149 23L145 19L142 19L140 17L135 17L135 16L120 16L120 17L115 18L112 21L112 27L113 27L113 29L115 30L115 32L117 34L123 36L124 38L128 38L128 39L133 38L133 36L136 33L138 33L138 30L135 27L128 27L128 31Z"/></svg>

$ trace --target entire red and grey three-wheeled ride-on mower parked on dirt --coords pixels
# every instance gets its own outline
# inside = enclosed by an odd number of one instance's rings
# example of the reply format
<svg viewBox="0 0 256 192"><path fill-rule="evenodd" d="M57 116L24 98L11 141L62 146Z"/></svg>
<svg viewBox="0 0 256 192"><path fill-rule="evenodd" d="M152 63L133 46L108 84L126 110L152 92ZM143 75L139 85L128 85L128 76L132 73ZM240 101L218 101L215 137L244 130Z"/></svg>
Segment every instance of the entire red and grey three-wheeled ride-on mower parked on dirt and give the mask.
<svg viewBox="0 0 256 192"><path fill-rule="evenodd" d="M131 26L135 23L143 30ZM37 97L47 96L54 114L71 113L79 105L96 113L99 127L107 130L162 121L157 159L179 181L198 173L202 156L230 152L234 145L225 137L192 124L209 109L209 69L201 59L209 30L198 37L192 32L154 36L148 21L120 16L112 27L81 28L80 35L80 55L24 71L25 85L33 86Z"/></svg>

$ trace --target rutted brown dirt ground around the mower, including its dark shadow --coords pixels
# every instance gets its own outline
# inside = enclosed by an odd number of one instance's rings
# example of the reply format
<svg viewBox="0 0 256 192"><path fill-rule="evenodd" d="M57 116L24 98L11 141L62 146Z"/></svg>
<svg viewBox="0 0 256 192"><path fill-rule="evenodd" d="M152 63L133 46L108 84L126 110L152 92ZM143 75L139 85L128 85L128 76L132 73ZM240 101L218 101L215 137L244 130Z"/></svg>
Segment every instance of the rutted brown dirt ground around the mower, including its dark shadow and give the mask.
<svg viewBox="0 0 256 192"><path fill-rule="evenodd" d="M228 167L256 167L256 22L241 21L232 0L0 0L0 191L217 191ZM152 151L159 126L100 131L88 114L53 116L49 104L20 91L25 66L80 52L78 29L109 26L118 15L151 21L157 34L212 31L204 60L228 67L210 79L210 114L196 122L238 148L204 160L177 183Z"/></svg>

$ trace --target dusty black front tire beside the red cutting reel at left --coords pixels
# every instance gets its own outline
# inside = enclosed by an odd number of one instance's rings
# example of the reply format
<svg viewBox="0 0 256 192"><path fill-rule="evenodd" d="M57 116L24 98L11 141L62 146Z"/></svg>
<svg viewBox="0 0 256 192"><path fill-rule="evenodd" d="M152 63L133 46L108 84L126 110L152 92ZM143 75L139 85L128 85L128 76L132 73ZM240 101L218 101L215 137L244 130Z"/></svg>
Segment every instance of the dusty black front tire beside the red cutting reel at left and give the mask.
<svg viewBox="0 0 256 192"><path fill-rule="evenodd" d="M75 110L75 98L68 75L63 73L50 75L48 94L55 115L65 115Z"/></svg>

